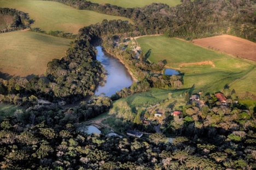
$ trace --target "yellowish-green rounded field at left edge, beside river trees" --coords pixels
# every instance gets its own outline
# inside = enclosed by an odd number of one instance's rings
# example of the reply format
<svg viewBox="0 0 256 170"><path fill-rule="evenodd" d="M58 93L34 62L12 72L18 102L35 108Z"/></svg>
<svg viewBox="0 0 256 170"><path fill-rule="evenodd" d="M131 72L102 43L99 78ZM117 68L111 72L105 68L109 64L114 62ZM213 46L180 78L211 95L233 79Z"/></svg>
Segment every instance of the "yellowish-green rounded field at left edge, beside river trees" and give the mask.
<svg viewBox="0 0 256 170"><path fill-rule="evenodd" d="M2 33L0 39L0 73L9 76L43 75L47 63L63 57L71 41L30 31Z"/></svg>

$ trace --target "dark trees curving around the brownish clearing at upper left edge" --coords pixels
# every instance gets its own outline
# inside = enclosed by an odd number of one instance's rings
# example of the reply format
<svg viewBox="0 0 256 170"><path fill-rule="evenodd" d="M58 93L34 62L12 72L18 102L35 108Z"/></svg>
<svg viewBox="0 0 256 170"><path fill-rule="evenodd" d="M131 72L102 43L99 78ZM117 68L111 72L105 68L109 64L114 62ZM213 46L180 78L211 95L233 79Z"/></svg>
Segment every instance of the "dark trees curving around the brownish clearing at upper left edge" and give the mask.
<svg viewBox="0 0 256 170"><path fill-rule="evenodd" d="M23 13L16 9L0 8L0 15L9 15L13 17L13 22L7 28L0 30L0 33L28 28L30 27L30 24L33 22L32 20L30 20L26 13Z"/></svg>

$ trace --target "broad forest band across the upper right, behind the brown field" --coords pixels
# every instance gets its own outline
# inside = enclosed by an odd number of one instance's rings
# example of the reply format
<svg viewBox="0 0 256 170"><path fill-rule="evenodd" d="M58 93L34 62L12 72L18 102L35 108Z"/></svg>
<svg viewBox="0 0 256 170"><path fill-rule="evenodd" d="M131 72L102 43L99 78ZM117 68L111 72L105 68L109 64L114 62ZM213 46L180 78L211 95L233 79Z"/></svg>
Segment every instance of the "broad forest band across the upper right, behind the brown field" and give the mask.
<svg viewBox="0 0 256 170"><path fill-rule="evenodd" d="M187 40L231 34L256 41L255 2L249 0L183 0L176 7L153 3L143 8L122 8L90 1L54 0L77 9L128 17L142 34L166 34Z"/></svg>

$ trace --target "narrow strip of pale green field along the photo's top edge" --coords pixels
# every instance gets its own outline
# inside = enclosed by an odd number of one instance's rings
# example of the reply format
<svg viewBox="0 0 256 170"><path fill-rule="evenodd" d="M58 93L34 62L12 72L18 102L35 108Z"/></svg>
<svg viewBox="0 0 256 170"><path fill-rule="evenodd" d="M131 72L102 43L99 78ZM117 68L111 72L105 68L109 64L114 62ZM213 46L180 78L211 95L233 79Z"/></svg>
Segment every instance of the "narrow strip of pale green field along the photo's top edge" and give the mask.
<svg viewBox="0 0 256 170"><path fill-rule="evenodd" d="M134 7L144 7L145 5L152 3L165 3L170 6L175 6L180 4L180 0L139 0L139 1L131 1L131 0L91 0L91 2L99 3L99 4L113 4L118 5L119 7L125 8L134 8Z"/></svg>

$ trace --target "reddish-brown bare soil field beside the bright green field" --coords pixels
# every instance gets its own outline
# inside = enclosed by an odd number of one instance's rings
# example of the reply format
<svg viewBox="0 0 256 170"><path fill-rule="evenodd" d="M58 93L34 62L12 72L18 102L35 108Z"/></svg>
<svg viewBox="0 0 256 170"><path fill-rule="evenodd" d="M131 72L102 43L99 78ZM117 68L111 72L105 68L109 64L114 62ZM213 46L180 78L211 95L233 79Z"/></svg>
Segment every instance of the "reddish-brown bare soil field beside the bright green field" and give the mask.
<svg viewBox="0 0 256 170"><path fill-rule="evenodd" d="M231 35L219 35L196 39L193 40L193 43L202 47L256 61L256 43L246 39Z"/></svg>

